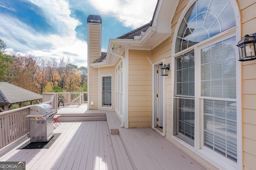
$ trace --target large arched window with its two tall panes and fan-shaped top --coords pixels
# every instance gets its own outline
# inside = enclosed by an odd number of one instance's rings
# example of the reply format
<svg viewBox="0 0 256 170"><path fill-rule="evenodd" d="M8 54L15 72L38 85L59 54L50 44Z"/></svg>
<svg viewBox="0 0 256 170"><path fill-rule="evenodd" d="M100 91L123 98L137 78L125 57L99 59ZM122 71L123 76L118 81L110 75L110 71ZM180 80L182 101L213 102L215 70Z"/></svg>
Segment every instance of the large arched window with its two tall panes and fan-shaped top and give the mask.
<svg viewBox="0 0 256 170"><path fill-rule="evenodd" d="M173 135L230 164L237 162L235 25L229 0L197 0L180 23L174 55Z"/></svg>

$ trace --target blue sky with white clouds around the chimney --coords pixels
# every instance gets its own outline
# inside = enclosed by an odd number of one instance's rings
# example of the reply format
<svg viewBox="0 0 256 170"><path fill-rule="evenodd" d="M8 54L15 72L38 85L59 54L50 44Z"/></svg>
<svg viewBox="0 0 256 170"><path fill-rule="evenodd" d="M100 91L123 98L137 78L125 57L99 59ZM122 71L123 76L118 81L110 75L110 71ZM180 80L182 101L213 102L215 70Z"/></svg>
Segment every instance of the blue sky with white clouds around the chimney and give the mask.
<svg viewBox="0 0 256 170"><path fill-rule="evenodd" d="M87 17L102 18L102 51L152 20L157 0L0 0L0 39L7 53L69 58L87 66Z"/></svg>

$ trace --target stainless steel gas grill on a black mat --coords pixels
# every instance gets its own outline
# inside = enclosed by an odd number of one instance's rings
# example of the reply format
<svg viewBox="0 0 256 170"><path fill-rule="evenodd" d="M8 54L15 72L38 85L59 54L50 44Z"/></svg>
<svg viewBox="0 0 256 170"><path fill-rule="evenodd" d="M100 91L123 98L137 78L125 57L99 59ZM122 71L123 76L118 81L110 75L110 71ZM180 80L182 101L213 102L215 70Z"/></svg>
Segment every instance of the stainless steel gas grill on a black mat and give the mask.
<svg viewBox="0 0 256 170"><path fill-rule="evenodd" d="M30 142L49 141L53 133L55 109L49 104L36 104L30 107Z"/></svg>

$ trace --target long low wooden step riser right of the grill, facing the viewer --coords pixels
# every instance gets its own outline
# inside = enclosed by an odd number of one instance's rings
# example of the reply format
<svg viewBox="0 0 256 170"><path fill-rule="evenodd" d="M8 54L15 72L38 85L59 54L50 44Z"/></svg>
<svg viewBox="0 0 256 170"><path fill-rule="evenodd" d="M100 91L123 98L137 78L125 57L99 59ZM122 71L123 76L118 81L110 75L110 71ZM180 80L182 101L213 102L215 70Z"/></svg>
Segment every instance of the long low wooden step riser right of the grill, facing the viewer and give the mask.
<svg viewBox="0 0 256 170"><path fill-rule="evenodd" d="M106 121L106 116L72 116L58 118L58 121Z"/></svg>

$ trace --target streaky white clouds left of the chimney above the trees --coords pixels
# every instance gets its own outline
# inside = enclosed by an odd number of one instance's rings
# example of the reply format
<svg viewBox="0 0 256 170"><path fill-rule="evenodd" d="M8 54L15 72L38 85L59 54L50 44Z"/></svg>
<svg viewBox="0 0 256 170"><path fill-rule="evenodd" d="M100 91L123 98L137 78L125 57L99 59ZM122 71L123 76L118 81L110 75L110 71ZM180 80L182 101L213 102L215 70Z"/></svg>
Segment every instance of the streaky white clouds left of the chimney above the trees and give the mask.
<svg viewBox="0 0 256 170"><path fill-rule="evenodd" d="M49 25L57 29L59 35L43 35L17 18L0 14L0 39L7 51L20 55L32 54L36 57L69 57L73 64L87 66L87 43L76 38L75 28L80 24L70 17L68 2L65 0L27 0L38 6Z"/></svg>

